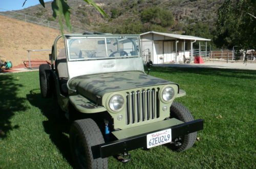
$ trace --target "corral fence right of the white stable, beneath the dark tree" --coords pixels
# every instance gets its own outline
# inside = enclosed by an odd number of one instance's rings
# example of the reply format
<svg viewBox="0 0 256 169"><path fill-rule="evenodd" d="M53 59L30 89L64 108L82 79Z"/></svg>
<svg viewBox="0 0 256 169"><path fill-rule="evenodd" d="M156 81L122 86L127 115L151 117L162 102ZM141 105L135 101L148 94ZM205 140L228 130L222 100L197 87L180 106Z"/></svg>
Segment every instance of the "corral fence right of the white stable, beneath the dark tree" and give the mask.
<svg viewBox="0 0 256 169"><path fill-rule="evenodd" d="M204 61L212 62L247 62L256 63L256 52L244 52L236 54L232 49L202 50L194 49L194 57L202 57Z"/></svg>

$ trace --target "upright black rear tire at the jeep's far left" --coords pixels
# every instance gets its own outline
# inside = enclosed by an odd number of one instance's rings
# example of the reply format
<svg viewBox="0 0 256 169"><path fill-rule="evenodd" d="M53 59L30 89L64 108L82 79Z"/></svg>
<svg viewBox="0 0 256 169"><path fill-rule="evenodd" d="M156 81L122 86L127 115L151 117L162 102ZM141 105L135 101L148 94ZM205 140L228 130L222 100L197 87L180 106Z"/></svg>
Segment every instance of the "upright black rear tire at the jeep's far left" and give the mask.
<svg viewBox="0 0 256 169"><path fill-rule="evenodd" d="M43 98L52 96L51 67L48 64L39 66L40 91Z"/></svg>

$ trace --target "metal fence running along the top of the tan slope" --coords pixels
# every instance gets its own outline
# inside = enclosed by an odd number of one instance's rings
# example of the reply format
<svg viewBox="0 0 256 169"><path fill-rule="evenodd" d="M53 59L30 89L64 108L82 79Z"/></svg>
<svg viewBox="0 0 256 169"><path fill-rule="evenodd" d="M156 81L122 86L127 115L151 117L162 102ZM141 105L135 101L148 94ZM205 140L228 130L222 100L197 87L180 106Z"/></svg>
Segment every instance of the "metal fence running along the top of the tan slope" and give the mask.
<svg viewBox="0 0 256 169"><path fill-rule="evenodd" d="M26 22L31 22L31 23L35 23L35 24L39 24L39 25L43 25L43 26L47 26L47 27L50 27L53 29L58 29L58 30L60 29L59 23L56 21L49 21L46 19L37 18L37 17L26 15L23 13L8 11L3 8L0 8L0 15L8 16L8 17L15 18L18 20L24 20ZM72 31L69 31L69 29L66 25L63 25L63 29L66 30L67 32L71 32L71 33L83 33L84 32L83 29L77 28L77 27L72 27Z"/></svg>

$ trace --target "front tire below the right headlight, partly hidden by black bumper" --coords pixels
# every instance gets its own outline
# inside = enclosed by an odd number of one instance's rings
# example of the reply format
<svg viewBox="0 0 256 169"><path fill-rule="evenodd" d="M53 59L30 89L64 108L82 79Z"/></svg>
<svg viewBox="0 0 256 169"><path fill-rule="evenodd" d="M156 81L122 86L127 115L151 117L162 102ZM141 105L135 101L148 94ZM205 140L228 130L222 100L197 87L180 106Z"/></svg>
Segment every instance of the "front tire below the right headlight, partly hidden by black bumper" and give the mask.
<svg viewBox="0 0 256 169"><path fill-rule="evenodd" d="M183 122L190 122L194 120L191 112L185 106L177 102L173 102L172 106L170 106L170 118L176 118ZM195 144L196 139L197 132L173 138L172 141L174 144L172 144L170 148L177 152L185 151Z"/></svg>

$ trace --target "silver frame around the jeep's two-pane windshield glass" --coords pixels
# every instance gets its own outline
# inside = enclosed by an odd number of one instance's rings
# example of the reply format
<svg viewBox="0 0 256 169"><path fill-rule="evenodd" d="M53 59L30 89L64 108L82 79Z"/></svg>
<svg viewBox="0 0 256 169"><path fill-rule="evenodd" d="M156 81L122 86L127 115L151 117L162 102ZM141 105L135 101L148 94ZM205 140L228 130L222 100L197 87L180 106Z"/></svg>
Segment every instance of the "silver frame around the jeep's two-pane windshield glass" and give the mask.
<svg viewBox="0 0 256 169"><path fill-rule="evenodd" d="M140 37L139 35L79 35L79 34L73 34L73 35L70 35L70 34L66 34L64 35L64 38L65 38L65 48L66 48L66 53L67 53L67 60L69 62L73 62L73 61L90 61L90 60L109 60L109 59L124 59L124 58L139 58L141 57L141 49L140 49ZM70 44L69 44L69 41L70 39L99 39L99 38L102 38L104 39L105 43L105 53L106 53L106 57L102 57L102 58L81 58L81 59L71 59L70 58ZM107 40L108 38L121 38L121 39L124 39L124 38L137 38L137 44L135 42L134 44L134 41L131 41L133 45L137 45L136 46L136 55L130 55L130 56L123 56L123 57L109 57L108 56L108 48L107 48ZM134 46L135 47L135 46ZM118 44L117 44L117 48L119 48Z"/></svg>

